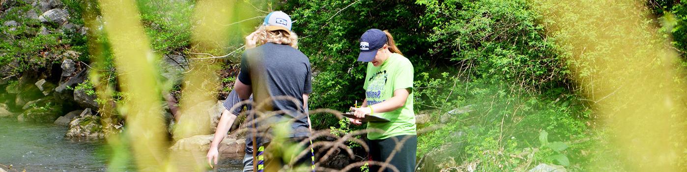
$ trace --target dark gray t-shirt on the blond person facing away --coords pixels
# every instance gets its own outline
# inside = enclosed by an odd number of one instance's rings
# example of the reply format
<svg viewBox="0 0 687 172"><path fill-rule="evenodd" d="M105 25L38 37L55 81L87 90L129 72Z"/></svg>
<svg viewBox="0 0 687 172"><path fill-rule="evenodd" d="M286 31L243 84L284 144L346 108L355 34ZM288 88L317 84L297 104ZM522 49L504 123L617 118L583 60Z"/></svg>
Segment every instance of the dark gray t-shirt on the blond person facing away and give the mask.
<svg viewBox="0 0 687 172"><path fill-rule="evenodd" d="M289 138L307 137L310 133L303 108L303 94L313 92L310 67L308 57L300 50L276 43L246 50L241 58L238 80L251 85L256 103L262 101L260 95L289 96L297 100L271 100L270 109L282 113L270 121L293 121Z"/></svg>

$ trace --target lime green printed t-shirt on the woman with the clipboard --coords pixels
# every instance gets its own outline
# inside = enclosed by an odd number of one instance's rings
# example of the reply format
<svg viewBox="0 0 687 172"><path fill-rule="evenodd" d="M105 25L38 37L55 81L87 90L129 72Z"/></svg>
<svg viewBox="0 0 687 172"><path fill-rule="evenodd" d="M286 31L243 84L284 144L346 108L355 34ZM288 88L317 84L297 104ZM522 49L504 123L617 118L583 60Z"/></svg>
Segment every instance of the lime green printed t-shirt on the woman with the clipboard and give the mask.
<svg viewBox="0 0 687 172"><path fill-rule="evenodd" d="M413 112L413 76L413 65L401 54L392 54L379 67L368 63L368 72L365 76L365 85L363 85L368 106L392 98L396 89L411 91L403 107L383 113L372 112L373 116L381 116L391 121L369 122L368 129L381 129L384 132L370 132L368 139L380 140L392 136L417 135Z"/></svg>

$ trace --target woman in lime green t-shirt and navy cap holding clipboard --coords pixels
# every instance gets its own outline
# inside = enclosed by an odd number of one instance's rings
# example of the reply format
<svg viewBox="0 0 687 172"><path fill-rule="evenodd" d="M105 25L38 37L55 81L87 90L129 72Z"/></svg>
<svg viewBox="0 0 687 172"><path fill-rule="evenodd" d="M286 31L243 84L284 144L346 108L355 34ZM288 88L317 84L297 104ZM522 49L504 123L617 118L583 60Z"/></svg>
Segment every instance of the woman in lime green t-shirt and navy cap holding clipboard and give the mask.
<svg viewBox="0 0 687 172"><path fill-rule="evenodd" d="M368 122L368 146L373 161L389 162L398 171L415 171L418 137L413 112L413 65L398 50L387 31L368 30L360 38L358 61L368 62L365 100L352 108L357 118L379 116L390 122ZM355 125L360 120L350 119ZM397 149L398 148L398 149ZM371 164L371 171L381 166ZM381 167L385 168L385 167ZM389 167L385 171L392 171Z"/></svg>

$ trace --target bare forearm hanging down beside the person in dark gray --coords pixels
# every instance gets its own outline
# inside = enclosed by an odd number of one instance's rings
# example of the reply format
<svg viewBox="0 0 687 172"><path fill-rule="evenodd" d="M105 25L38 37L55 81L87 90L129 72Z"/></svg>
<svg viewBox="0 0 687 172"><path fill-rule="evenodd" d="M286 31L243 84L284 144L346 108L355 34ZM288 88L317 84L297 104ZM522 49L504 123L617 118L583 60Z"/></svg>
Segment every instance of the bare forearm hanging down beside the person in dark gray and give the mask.
<svg viewBox="0 0 687 172"><path fill-rule="evenodd" d="M222 111L222 116L219 118L219 124L217 125L217 131L215 131L214 138L210 142L210 150L207 151L207 163L210 164L210 168L213 168L213 163L217 164L219 158L219 143L227 137L227 132L232 124L236 120L236 116L229 112L228 109Z"/></svg>

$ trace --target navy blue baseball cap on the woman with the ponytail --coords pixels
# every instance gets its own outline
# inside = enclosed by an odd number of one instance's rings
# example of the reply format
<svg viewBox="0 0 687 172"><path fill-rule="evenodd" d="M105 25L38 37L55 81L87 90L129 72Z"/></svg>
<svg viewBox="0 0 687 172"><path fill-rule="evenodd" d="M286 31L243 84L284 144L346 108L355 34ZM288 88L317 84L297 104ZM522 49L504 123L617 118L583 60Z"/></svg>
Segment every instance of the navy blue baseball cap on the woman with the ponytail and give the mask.
<svg viewBox="0 0 687 172"><path fill-rule="evenodd" d="M386 34L378 29L370 29L360 36L360 55L358 61L370 62L377 55L377 50L387 43Z"/></svg>

